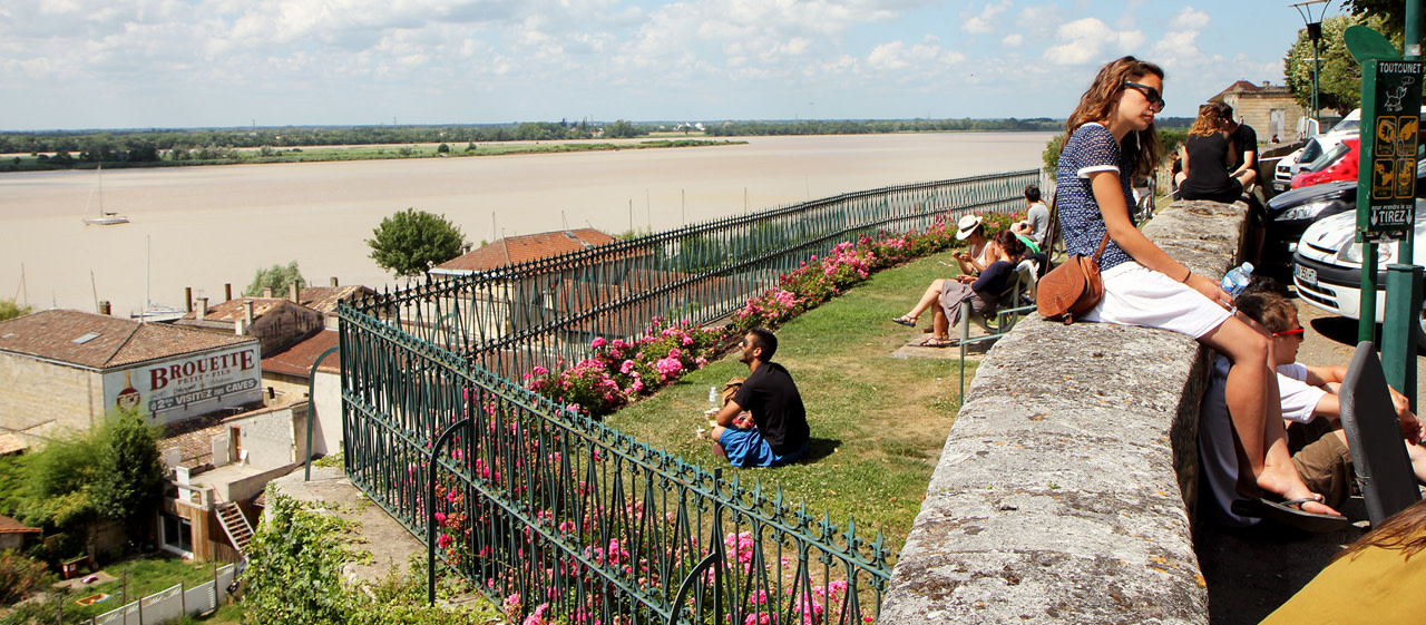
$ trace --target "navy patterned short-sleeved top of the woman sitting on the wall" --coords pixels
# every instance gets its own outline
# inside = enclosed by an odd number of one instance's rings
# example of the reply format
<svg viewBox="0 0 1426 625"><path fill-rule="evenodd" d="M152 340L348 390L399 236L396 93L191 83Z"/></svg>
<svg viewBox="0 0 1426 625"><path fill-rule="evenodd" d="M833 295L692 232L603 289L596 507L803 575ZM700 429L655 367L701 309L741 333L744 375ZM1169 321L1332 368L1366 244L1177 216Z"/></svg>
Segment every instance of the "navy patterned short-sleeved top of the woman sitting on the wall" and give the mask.
<svg viewBox="0 0 1426 625"><path fill-rule="evenodd" d="M1094 200L1094 190L1089 188L1089 174L1118 171L1119 187L1124 188L1124 205L1134 205L1134 191L1129 186L1132 170L1134 164L1128 161L1118 141L1109 134L1109 128L1104 126L1084 124L1065 140L1055 173L1058 181L1055 200L1060 207L1060 225L1065 235L1065 250L1070 254L1094 255L1107 231L1099 203ZM1134 220L1132 211L1129 211L1129 220ZM1109 244L1104 247L1099 270L1104 271L1132 260L1111 238Z"/></svg>

